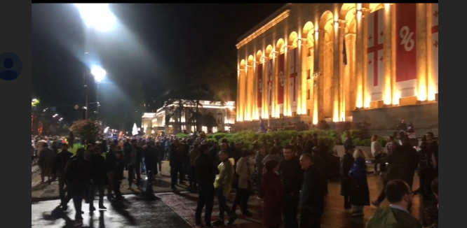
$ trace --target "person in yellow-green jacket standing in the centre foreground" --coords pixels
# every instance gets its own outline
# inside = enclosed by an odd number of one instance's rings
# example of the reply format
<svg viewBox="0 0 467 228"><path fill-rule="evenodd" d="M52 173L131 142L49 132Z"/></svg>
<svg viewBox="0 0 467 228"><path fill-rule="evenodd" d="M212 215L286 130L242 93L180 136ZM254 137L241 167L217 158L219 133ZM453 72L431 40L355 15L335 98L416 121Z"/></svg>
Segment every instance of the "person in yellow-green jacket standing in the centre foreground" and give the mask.
<svg viewBox="0 0 467 228"><path fill-rule="evenodd" d="M217 194L217 200L219 201L219 220L212 223L215 227L221 227L225 225L224 215L229 215L229 222L227 225L234 224L237 219L235 211L231 211L230 207L227 206L226 197L229 197L230 191L232 190L232 180L234 180L234 164L229 159L229 154L221 150L219 152L219 174L216 176L214 181L214 187Z"/></svg>

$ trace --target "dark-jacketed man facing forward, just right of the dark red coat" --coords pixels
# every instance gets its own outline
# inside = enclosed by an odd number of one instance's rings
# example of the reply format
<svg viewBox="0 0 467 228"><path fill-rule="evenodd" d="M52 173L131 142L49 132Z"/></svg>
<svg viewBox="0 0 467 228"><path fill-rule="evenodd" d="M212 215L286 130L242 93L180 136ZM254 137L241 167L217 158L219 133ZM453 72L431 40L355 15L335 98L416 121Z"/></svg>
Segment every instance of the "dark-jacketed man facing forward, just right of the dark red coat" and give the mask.
<svg viewBox="0 0 467 228"><path fill-rule="evenodd" d="M300 188L304 172L300 167L299 158L295 157L291 145L283 149L283 159L279 163L280 182L284 190L283 218L285 227L298 228L297 214Z"/></svg>

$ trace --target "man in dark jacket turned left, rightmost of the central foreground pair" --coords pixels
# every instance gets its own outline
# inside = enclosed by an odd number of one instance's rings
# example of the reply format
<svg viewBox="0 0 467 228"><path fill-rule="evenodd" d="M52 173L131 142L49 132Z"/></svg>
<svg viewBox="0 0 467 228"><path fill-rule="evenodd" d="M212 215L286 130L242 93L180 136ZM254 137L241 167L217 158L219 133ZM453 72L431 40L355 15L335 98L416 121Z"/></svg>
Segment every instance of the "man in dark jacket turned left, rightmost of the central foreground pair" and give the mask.
<svg viewBox="0 0 467 228"><path fill-rule="evenodd" d="M304 179L300 196L300 228L321 227L321 216L325 207L325 187L327 179L313 163L313 157L304 154L300 157L300 165L304 169Z"/></svg>

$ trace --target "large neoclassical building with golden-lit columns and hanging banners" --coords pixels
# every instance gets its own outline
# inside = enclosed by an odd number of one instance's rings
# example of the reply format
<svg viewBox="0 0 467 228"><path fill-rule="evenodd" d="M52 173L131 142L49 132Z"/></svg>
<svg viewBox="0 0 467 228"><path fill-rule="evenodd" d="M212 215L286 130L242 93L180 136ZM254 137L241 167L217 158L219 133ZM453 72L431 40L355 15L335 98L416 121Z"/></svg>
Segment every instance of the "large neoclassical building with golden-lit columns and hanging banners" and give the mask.
<svg viewBox="0 0 467 228"><path fill-rule="evenodd" d="M238 40L237 124L438 129L438 3L288 3Z"/></svg>

